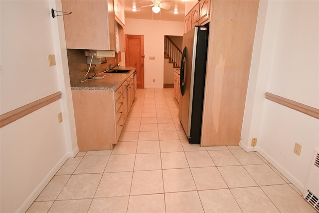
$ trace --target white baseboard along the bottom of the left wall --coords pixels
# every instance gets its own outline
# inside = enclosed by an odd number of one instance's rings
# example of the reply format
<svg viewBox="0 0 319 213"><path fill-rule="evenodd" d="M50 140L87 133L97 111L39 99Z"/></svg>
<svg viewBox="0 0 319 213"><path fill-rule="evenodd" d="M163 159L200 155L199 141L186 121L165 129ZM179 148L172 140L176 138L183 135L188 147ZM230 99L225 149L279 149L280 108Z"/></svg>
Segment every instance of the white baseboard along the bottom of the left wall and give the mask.
<svg viewBox="0 0 319 213"><path fill-rule="evenodd" d="M39 185L33 190L33 192L29 195L29 197L23 202L20 208L16 211L16 213L25 213L28 208L31 206L33 201L40 195L42 190L46 187L46 185L51 181L53 176L59 171L59 169L63 166L63 164L68 159L68 153L66 153L57 164L51 169L51 171L45 176L45 178L39 183Z"/></svg>

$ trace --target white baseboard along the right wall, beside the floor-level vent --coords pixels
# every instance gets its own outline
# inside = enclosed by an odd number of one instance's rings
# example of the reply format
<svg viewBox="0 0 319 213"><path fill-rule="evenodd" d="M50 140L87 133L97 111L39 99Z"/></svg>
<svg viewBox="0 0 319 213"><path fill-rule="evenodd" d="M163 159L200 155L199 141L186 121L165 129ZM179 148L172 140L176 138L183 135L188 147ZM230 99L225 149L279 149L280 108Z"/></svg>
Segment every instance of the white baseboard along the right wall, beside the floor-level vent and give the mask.
<svg viewBox="0 0 319 213"><path fill-rule="evenodd" d="M257 147L256 150L261 154L271 165L273 165L281 174L283 174L300 192L304 192L305 185L302 184L295 176L279 164L274 158L269 156L263 149Z"/></svg>

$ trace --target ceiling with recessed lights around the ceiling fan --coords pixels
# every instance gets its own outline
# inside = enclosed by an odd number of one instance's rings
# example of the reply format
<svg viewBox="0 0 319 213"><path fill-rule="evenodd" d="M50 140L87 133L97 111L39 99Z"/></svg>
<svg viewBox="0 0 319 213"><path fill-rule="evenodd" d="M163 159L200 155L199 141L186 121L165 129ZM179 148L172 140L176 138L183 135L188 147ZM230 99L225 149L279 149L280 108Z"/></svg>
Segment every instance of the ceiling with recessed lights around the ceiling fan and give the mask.
<svg viewBox="0 0 319 213"><path fill-rule="evenodd" d="M185 1L182 0L162 0L172 2L169 9L160 9L159 13L152 12L152 6L143 7L144 5L152 4L152 0L119 0L124 7L126 18L141 18L154 20L168 20L168 21L184 21L185 16ZM135 6L134 6L135 5ZM131 8L136 7L138 11L133 12ZM179 13L174 14L177 10Z"/></svg>

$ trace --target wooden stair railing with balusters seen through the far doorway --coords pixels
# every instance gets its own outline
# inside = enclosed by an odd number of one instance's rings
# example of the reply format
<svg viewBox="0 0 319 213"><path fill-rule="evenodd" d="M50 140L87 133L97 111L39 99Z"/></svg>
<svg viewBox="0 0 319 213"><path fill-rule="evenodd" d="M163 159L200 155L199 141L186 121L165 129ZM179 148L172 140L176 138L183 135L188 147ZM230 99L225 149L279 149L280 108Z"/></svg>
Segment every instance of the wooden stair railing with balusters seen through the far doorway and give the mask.
<svg viewBox="0 0 319 213"><path fill-rule="evenodd" d="M181 50L168 36L165 35L164 39L164 58L168 58L169 63L172 63L174 68L180 68Z"/></svg>

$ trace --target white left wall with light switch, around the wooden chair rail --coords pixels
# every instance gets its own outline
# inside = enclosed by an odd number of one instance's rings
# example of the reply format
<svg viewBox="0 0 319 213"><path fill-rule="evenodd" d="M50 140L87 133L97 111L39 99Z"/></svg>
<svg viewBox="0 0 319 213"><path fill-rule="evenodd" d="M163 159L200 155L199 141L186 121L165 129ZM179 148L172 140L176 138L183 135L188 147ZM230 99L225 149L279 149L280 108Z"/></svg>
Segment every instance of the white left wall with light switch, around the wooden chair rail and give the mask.
<svg viewBox="0 0 319 213"><path fill-rule="evenodd" d="M77 153L64 31L60 38L58 26L63 18L52 18L50 9L61 8L51 0L0 4L1 114L62 92L60 100L0 129L0 212L25 212ZM48 66L49 54L55 54L55 66Z"/></svg>

